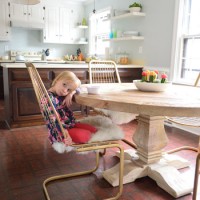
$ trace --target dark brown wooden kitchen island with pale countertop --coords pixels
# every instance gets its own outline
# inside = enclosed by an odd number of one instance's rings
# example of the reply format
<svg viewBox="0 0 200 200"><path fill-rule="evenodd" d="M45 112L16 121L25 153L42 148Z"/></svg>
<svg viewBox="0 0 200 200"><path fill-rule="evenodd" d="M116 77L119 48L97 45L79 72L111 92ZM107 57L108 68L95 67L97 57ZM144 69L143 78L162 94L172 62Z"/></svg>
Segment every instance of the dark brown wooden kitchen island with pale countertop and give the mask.
<svg viewBox="0 0 200 200"><path fill-rule="evenodd" d="M5 116L10 128L43 124L32 83L24 63L2 63ZM52 80L63 70L74 72L83 84L89 83L88 64L47 64L34 63L47 88ZM122 82L132 82L141 78L142 67L118 65ZM72 105L73 111L81 111L78 104Z"/></svg>

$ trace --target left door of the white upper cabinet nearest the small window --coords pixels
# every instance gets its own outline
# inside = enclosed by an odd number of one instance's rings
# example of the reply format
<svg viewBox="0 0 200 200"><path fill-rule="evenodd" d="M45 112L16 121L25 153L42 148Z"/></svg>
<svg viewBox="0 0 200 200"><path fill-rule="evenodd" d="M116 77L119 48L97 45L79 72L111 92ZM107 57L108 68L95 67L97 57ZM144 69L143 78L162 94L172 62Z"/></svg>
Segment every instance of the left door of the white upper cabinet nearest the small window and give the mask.
<svg viewBox="0 0 200 200"><path fill-rule="evenodd" d="M43 41L49 43L59 42L59 9L46 7L45 9L45 28Z"/></svg>

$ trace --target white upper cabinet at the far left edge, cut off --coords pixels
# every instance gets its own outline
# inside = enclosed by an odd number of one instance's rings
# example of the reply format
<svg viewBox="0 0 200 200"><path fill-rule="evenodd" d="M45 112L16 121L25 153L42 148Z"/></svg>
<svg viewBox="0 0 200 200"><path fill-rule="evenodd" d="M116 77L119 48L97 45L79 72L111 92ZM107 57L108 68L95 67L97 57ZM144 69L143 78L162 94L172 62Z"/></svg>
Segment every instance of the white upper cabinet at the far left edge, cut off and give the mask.
<svg viewBox="0 0 200 200"><path fill-rule="evenodd" d="M0 6L0 40L7 41L10 39L10 18L8 1L1 1Z"/></svg>

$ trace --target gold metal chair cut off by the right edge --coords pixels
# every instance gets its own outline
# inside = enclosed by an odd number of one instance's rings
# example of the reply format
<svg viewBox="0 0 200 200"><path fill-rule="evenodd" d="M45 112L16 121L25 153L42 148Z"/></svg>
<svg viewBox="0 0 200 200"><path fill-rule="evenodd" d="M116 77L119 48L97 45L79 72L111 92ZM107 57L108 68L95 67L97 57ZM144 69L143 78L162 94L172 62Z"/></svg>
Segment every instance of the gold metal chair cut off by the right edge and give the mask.
<svg viewBox="0 0 200 200"><path fill-rule="evenodd" d="M195 81L194 87L198 86L198 82L200 80L200 73L197 76ZM198 128L200 131L200 118L198 117L166 117L168 121L178 124L180 126L187 126L187 127L195 127ZM181 150L192 150L197 152L196 157L196 166L195 166L195 176L194 176L194 188L193 188L193 200L197 200L197 192L198 192L198 180L200 174L200 133L199 133L199 143L198 147L190 147L190 146L182 146L180 148L175 148L167 153L174 153Z"/></svg>

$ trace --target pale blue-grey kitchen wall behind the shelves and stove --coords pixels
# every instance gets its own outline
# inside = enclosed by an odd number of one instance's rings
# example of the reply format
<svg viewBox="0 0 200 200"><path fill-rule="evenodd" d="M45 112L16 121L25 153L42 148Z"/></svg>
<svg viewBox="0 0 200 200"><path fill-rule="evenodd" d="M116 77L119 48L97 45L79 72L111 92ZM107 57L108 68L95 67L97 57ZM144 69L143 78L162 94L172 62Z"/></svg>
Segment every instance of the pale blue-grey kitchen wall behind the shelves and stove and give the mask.
<svg viewBox="0 0 200 200"><path fill-rule="evenodd" d="M122 51L129 53L134 63L142 63L159 70L167 71L170 68L174 6L176 0L140 0L143 5L143 18L121 19L114 23L120 29L138 30L145 37L144 41L123 41L111 43L113 54L120 47ZM93 1L85 5L85 13L92 12ZM127 9L133 0L96 0L96 10L112 6L113 9ZM41 41L41 31L12 28L12 38L9 42L0 41L0 55L7 54L8 50L33 50L53 49L51 56L59 57L65 54L76 54L78 45L44 44ZM80 46L87 53L87 45ZM139 53L139 47L143 52Z"/></svg>

